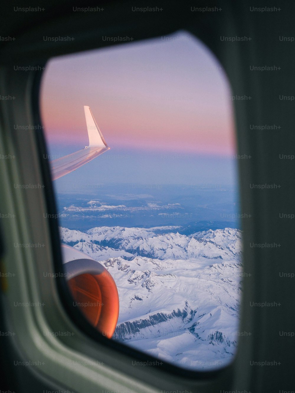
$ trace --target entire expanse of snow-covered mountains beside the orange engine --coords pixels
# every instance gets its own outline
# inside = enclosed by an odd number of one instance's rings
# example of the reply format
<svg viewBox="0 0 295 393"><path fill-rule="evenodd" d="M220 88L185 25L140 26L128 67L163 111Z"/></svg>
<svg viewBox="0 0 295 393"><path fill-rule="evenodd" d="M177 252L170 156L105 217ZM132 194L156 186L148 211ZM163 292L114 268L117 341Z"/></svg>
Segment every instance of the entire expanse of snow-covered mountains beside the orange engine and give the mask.
<svg viewBox="0 0 295 393"><path fill-rule="evenodd" d="M186 236L177 229L61 228L60 234L114 277L120 299L115 340L182 367L216 368L236 350L241 232Z"/></svg>

